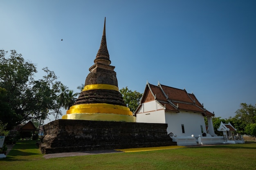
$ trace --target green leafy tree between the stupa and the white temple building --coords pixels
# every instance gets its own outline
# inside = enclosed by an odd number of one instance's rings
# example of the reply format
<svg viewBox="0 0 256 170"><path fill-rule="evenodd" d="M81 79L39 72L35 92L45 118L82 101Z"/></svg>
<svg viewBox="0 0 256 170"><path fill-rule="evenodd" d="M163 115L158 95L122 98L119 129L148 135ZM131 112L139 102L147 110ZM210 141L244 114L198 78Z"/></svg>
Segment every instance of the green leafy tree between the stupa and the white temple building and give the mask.
<svg viewBox="0 0 256 170"><path fill-rule="evenodd" d="M131 91L128 89L127 86L126 88L121 88L119 91L123 96L124 103L128 108L130 108L130 111L132 111L133 113L139 106L139 100L142 97L142 93L139 93L137 91Z"/></svg>

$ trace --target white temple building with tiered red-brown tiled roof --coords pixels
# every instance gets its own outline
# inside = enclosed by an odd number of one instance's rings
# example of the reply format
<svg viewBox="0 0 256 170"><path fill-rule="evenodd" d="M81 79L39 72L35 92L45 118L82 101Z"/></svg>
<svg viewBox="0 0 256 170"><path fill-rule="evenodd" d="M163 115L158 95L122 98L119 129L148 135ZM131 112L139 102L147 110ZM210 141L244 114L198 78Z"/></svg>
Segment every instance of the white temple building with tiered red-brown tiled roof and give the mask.
<svg viewBox="0 0 256 170"><path fill-rule="evenodd" d="M206 110L195 95L186 90L146 83L139 107L135 110L136 121L168 124L171 137L181 137L182 142L193 136L193 142L178 145L196 145L199 135L216 137L213 129L213 113ZM204 123L207 117L208 129ZM189 137L189 138L188 138ZM175 139L174 139L175 141Z"/></svg>

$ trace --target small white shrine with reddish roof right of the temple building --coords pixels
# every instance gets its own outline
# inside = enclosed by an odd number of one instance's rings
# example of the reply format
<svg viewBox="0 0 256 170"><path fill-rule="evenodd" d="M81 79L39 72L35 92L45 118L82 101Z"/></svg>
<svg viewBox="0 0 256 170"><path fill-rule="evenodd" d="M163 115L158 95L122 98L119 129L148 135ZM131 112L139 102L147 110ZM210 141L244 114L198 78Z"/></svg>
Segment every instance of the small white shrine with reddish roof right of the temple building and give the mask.
<svg viewBox="0 0 256 170"><path fill-rule="evenodd" d="M218 131L223 132L224 142L227 142L228 144L245 143L243 136L240 134L236 134L236 128L234 128L234 126L232 126L230 122L228 124L224 124L223 122L221 122Z"/></svg>

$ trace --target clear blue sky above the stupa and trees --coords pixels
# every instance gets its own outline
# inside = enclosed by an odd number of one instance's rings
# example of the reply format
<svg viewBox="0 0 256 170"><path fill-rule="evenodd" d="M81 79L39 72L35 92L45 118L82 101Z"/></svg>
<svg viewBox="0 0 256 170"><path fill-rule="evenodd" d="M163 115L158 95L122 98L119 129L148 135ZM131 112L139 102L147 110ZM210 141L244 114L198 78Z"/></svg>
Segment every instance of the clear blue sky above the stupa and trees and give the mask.
<svg viewBox="0 0 256 170"><path fill-rule="evenodd" d="M256 104L255 0L0 0L0 49L79 92L105 17L119 89L185 88L223 119Z"/></svg>

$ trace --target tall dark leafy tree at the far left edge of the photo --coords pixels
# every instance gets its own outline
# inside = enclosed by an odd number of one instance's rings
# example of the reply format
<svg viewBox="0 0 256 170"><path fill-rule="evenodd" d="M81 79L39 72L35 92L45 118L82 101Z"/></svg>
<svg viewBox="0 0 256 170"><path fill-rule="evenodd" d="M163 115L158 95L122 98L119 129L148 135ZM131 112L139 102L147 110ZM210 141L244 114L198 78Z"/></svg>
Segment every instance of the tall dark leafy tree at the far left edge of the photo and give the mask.
<svg viewBox="0 0 256 170"><path fill-rule="evenodd" d="M6 89L4 102L13 110L13 113L8 114L8 119L2 120L8 124L9 129L24 121L24 115L31 110L31 94L28 92L37 71L34 64L25 61L15 50L11 50L9 57L6 56L7 53L8 51L0 50L0 87Z"/></svg>

